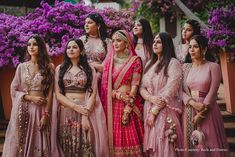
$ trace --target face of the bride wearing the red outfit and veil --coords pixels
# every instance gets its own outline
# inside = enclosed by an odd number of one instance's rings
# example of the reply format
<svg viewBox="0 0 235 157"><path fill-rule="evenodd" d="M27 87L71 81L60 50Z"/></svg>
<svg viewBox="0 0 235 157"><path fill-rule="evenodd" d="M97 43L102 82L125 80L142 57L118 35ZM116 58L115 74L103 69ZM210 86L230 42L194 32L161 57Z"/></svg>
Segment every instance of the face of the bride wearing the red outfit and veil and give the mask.
<svg viewBox="0 0 235 157"><path fill-rule="evenodd" d="M117 33L112 37L113 47L116 52L124 52L127 47L127 42L123 40Z"/></svg>

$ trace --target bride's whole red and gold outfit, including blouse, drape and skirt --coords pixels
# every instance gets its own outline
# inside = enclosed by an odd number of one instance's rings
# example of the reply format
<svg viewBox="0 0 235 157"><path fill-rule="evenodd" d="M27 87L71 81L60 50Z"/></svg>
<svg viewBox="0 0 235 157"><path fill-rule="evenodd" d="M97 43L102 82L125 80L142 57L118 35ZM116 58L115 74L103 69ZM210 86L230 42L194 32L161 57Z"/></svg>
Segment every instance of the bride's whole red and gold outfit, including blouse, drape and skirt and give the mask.
<svg viewBox="0 0 235 157"><path fill-rule="evenodd" d="M129 34L123 31L129 38ZM130 41L130 40L129 40ZM112 98L113 90L125 89L124 86L139 86L142 75L142 62L136 56L133 49L129 49L129 57L121 65L116 68L114 64L114 50L112 49L107 56L104 64L101 84L101 100L106 114L108 125L109 151L110 156L143 156L143 105L142 98L136 95L133 110L130 113L130 120L127 125L122 124L122 116L126 104ZM124 91L122 91L124 92ZM125 91L130 93L130 89Z"/></svg>

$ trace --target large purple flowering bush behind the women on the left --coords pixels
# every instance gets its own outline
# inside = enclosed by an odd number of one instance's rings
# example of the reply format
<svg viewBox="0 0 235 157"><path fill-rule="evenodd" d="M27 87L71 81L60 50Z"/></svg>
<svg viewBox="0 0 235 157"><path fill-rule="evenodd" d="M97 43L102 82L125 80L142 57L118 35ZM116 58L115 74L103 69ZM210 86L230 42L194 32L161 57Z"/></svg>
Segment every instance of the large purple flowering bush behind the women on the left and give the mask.
<svg viewBox="0 0 235 157"><path fill-rule="evenodd" d="M26 41L32 34L40 34L49 46L50 56L63 53L69 38L84 34L84 21L88 14L98 12L104 18L108 32L130 30L134 13L114 9L95 10L83 3L56 2L54 6L42 3L25 17L0 14L0 68L23 61Z"/></svg>

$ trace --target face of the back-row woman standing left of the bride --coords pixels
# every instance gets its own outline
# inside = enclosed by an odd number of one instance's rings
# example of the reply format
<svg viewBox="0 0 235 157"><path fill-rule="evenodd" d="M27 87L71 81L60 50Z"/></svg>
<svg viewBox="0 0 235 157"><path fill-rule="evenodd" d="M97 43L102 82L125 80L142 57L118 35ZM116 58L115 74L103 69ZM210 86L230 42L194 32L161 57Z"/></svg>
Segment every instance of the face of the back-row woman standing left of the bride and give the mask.
<svg viewBox="0 0 235 157"><path fill-rule="evenodd" d="M84 28L87 34L98 35L98 27L99 26L96 24L95 21L90 18L86 18Z"/></svg>

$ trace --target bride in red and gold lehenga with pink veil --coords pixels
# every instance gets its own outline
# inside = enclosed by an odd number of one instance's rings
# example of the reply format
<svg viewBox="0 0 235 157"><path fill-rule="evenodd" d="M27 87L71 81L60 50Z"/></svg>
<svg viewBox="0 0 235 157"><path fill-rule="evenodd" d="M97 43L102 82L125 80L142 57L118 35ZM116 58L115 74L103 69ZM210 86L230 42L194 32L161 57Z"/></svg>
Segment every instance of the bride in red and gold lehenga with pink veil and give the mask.
<svg viewBox="0 0 235 157"><path fill-rule="evenodd" d="M142 62L129 33L118 30L104 63L101 100L108 124L110 157L142 157L142 99L138 94Z"/></svg>

